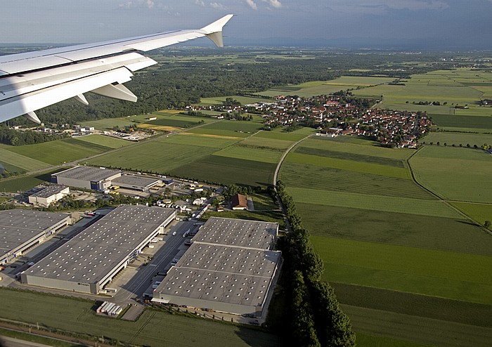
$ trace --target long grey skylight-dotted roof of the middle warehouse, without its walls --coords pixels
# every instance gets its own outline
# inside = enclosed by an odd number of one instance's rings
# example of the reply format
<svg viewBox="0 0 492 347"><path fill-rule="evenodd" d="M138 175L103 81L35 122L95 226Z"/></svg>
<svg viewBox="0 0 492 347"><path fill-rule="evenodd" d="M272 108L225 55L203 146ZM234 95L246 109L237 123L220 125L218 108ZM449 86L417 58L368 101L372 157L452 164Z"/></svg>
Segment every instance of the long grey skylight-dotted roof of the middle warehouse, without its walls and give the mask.
<svg viewBox="0 0 492 347"><path fill-rule="evenodd" d="M36 265L27 275L97 283L174 214L174 209L117 207Z"/></svg>

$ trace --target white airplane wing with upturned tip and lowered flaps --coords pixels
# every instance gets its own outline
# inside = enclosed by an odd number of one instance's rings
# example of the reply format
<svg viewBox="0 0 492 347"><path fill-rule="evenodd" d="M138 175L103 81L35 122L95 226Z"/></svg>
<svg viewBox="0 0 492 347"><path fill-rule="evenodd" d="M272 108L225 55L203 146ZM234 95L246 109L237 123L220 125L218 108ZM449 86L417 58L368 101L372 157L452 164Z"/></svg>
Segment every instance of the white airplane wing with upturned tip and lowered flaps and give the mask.
<svg viewBox="0 0 492 347"><path fill-rule="evenodd" d="M0 56L0 122L25 114L41 123L34 111L75 98L88 105L84 93L136 101L123 86L132 72L157 64L138 51L208 37L224 46L222 28L233 17L225 15L198 30L176 30L158 34L82 44L46 51Z"/></svg>

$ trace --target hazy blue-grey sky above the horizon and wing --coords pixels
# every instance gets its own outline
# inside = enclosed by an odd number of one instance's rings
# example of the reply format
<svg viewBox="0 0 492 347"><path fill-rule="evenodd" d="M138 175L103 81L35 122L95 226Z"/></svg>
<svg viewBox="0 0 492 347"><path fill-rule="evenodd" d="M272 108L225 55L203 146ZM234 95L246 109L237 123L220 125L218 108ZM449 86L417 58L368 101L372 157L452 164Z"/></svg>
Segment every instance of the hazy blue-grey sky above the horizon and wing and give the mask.
<svg viewBox="0 0 492 347"><path fill-rule="evenodd" d="M0 0L0 13L0 44L105 41L233 13L229 46L492 48L492 0Z"/></svg>

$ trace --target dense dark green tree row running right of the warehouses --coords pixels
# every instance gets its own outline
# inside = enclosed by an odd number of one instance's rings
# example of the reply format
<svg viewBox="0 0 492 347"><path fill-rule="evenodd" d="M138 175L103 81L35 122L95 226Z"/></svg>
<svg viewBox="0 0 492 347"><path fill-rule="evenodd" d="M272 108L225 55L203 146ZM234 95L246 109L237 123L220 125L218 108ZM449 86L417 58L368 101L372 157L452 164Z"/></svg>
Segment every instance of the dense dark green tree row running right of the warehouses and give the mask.
<svg viewBox="0 0 492 347"><path fill-rule="evenodd" d="M280 247L285 260L285 274L290 279L287 302L292 346L355 346L356 336L349 317L339 307L335 292L321 280L323 262L314 251L309 232L302 226L294 201L285 191L285 184L277 182L280 197L292 232Z"/></svg>

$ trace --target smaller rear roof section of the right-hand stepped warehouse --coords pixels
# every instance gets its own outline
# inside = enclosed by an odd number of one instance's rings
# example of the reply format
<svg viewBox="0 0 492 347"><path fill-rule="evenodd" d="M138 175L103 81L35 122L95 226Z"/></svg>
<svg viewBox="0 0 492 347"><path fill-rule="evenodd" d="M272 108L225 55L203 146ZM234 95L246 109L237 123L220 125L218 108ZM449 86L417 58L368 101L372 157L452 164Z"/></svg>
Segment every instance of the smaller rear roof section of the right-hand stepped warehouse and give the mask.
<svg viewBox="0 0 492 347"><path fill-rule="evenodd" d="M193 241L252 249L270 249L277 233L278 223L211 217L200 227Z"/></svg>

